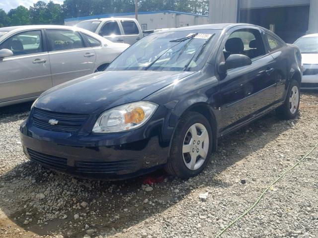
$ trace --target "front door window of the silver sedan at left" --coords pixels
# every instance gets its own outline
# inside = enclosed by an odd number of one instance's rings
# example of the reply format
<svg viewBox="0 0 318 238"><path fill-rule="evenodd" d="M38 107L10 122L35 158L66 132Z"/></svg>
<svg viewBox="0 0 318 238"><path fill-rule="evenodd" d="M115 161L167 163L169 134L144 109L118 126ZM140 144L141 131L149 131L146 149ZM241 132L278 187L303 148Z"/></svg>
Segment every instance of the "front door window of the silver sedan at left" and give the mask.
<svg viewBox="0 0 318 238"><path fill-rule="evenodd" d="M13 56L42 53L41 31L25 31L11 36L0 45L0 50L2 49L11 50Z"/></svg>

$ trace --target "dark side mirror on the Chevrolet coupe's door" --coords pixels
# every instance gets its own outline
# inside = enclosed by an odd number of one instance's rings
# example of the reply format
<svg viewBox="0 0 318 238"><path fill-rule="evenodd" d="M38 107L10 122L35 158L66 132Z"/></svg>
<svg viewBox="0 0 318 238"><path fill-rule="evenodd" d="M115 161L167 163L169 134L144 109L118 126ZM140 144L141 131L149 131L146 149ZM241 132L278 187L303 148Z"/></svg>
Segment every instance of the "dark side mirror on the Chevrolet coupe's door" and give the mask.
<svg viewBox="0 0 318 238"><path fill-rule="evenodd" d="M251 65L252 60L245 55L230 55L225 62L219 64L219 73L225 74L228 69Z"/></svg>

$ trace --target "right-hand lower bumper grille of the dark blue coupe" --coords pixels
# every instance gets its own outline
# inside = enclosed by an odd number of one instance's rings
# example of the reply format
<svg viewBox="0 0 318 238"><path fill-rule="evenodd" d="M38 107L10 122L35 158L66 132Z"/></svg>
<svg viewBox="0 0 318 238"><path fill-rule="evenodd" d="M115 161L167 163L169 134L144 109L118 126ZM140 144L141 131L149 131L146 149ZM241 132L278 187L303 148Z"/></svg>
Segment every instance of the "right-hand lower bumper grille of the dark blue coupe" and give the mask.
<svg viewBox="0 0 318 238"><path fill-rule="evenodd" d="M115 173L122 170L133 169L135 160L121 160L112 162L77 161L76 171L79 173Z"/></svg>

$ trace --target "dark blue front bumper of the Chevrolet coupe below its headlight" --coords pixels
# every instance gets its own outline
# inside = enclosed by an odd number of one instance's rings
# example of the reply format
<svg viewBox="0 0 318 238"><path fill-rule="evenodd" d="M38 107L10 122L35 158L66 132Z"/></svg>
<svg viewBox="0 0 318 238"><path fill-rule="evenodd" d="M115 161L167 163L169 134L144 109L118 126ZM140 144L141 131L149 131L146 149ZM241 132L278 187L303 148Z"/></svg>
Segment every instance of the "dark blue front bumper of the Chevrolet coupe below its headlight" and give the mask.
<svg viewBox="0 0 318 238"><path fill-rule="evenodd" d="M20 137L27 157L44 167L77 177L127 179L166 163L169 142L160 131L160 124L152 124L125 133L72 135L38 128L29 117Z"/></svg>

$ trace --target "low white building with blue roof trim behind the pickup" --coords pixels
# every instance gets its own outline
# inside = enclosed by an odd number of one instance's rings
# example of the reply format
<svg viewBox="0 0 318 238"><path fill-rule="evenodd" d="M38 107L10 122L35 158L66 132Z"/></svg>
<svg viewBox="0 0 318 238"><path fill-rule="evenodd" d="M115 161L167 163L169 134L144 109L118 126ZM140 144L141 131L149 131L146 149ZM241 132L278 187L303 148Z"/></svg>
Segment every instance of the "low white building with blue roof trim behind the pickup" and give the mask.
<svg viewBox="0 0 318 238"><path fill-rule="evenodd" d="M79 21L96 19L96 18L108 18L108 17L135 18L135 12L67 18L64 20L64 23L67 26L73 26L73 25L76 25ZM155 30L155 29L161 29L161 28L175 28L175 27L182 27L182 26L208 24L209 17L198 15L198 14L168 11L168 10L149 11L149 12L138 12L138 22L141 25L142 30L145 31L145 30Z"/></svg>

